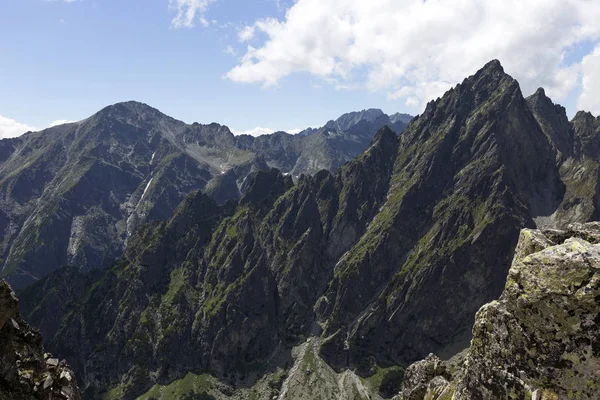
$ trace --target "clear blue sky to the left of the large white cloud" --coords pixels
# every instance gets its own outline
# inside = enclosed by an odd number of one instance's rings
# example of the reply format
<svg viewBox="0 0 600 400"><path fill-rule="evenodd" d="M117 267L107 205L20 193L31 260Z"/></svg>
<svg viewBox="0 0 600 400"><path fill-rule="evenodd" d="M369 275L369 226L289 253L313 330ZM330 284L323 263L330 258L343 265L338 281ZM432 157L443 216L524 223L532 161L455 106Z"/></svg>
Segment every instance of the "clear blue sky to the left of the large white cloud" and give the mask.
<svg viewBox="0 0 600 400"><path fill-rule="evenodd" d="M317 88L307 74L271 88L225 79L236 64L227 46L245 48L237 40L239 27L281 16L281 6L271 0L217 2L207 13L216 25L175 29L166 0L2 0L0 114L41 128L138 100L186 122L247 130L320 125L368 107L405 108L384 93Z"/></svg>

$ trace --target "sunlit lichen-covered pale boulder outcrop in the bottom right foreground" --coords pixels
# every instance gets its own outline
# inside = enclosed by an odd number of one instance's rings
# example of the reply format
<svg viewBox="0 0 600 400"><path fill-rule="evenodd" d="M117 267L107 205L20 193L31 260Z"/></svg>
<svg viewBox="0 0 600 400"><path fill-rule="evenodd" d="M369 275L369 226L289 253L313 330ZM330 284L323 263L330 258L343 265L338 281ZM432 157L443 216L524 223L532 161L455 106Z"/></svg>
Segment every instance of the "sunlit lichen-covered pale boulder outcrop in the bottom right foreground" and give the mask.
<svg viewBox="0 0 600 400"><path fill-rule="evenodd" d="M504 293L475 317L464 361L411 365L399 399L596 399L600 223L521 232Z"/></svg>

